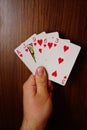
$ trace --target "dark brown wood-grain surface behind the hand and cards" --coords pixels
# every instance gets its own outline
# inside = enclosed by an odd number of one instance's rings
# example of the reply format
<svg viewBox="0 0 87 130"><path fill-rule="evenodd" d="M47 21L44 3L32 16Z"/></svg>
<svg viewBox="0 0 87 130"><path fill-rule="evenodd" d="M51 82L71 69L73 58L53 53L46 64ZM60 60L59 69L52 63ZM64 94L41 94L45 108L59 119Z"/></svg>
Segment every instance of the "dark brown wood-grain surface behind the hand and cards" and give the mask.
<svg viewBox="0 0 87 130"><path fill-rule="evenodd" d="M87 130L87 0L0 0L0 130L20 128L30 75L14 48L41 31L58 31L82 47L66 87L54 83L46 130Z"/></svg>

